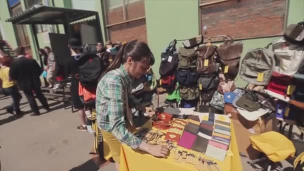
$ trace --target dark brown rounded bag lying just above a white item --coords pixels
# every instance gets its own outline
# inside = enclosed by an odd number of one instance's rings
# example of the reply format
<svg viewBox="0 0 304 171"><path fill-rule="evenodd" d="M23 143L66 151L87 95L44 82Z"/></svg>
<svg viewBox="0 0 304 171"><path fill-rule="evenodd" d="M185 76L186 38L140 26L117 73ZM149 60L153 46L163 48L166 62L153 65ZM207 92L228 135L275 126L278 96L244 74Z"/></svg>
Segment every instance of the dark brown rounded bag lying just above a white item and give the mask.
<svg viewBox="0 0 304 171"><path fill-rule="evenodd" d="M247 91L238 98L236 105L247 111L255 111L261 107L261 104L257 100L257 97L252 92Z"/></svg>

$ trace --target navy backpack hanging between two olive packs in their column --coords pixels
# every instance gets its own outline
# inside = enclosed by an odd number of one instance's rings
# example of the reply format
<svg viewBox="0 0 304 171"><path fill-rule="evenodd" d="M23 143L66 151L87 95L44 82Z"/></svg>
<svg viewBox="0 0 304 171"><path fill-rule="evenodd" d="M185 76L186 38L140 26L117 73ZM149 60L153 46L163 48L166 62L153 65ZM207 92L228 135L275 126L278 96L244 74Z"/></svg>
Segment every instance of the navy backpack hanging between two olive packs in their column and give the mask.
<svg viewBox="0 0 304 171"><path fill-rule="evenodd" d="M193 86L197 83L196 72L192 69L177 69L176 80L180 85Z"/></svg>

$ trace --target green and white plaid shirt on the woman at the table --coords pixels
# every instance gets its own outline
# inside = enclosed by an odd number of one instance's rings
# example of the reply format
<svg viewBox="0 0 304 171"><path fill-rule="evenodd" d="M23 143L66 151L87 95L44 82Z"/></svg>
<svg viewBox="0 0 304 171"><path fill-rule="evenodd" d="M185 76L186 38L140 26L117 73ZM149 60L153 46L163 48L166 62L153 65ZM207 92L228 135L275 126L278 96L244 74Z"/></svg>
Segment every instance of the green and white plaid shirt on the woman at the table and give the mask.
<svg viewBox="0 0 304 171"><path fill-rule="evenodd" d="M124 66L107 72L100 79L96 90L96 119L100 129L111 132L121 143L135 149L141 143L141 139L133 135L126 128L124 120L124 99L129 98L129 103L138 104L133 95L125 97L122 79L125 80L128 92L132 79Z"/></svg>

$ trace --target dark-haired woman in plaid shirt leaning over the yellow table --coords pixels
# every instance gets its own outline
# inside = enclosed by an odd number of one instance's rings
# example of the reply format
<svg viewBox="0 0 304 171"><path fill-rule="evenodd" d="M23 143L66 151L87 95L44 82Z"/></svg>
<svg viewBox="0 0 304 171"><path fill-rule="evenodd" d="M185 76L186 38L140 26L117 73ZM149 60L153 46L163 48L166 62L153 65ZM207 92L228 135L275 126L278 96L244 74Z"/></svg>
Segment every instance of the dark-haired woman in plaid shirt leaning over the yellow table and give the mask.
<svg viewBox="0 0 304 171"><path fill-rule="evenodd" d="M145 143L132 133L130 108L143 111L145 108L130 93L131 83L143 76L153 61L153 54L146 43L131 41L123 44L97 85L96 123L110 148L117 170L121 143L154 156L164 157L168 153L166 146Z"/></svg>

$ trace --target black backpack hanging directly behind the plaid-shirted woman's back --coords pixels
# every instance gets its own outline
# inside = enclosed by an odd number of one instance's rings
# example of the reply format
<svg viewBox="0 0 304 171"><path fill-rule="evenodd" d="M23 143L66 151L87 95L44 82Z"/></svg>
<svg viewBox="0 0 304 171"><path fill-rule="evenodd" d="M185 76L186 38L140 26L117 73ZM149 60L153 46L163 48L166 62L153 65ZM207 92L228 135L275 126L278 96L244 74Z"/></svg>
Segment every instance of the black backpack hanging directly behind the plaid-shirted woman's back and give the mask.
<svg viewBox="0 0 304 171"><path fill-rule="evenodd" d="M82 53L77 61L79 81L84 87L96 87L104 69L100 57L94 53Z"/></svg>

